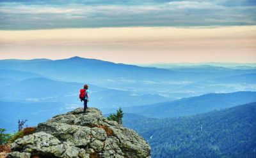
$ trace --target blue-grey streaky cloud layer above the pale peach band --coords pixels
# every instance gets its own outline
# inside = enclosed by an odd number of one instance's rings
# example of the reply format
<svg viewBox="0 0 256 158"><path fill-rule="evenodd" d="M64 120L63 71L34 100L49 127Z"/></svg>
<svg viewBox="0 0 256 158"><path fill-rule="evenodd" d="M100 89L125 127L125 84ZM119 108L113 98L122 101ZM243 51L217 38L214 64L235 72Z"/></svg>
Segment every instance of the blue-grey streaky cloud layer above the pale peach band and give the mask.
<svg viewBox="0 0 256 158"><path fill-rule="evenodd" d="M256 25L253 0L0 2L0 29Z"/></svg>

